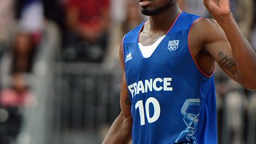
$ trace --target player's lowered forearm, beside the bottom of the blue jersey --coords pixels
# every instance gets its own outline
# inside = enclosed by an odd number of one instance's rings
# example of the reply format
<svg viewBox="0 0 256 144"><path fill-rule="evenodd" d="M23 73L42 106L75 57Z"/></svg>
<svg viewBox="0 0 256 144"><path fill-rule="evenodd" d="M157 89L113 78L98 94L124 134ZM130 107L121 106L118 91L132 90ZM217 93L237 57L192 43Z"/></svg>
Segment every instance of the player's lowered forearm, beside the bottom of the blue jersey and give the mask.
<svg viewBox="0 0 256 144"><path fill-rule="evenodd" d="M132 137L132 118L126 118L122 113L112 124L103 144L129 143Z"/></svg>

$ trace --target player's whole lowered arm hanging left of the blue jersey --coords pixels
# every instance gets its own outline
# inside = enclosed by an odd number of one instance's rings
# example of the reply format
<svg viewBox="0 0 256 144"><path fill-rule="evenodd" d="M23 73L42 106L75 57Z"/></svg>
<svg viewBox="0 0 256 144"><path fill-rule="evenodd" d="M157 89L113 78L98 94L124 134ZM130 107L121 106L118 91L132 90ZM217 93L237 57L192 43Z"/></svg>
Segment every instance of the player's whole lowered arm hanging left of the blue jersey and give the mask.
<svg viewBox="0 0 256 144"><path fill-rule="evenodd" d="M107 133L103 143L104 144L116 144L116 143L129 143L132 137L132 115L130 113L131 103L129 100L129 93L126 85L126 75L124 72L124 60L123 60L123 44L120 46L119 57L123 68L123 78L121 81L120 92L120 107L121 113L116 118L110 130Z"/></svg>

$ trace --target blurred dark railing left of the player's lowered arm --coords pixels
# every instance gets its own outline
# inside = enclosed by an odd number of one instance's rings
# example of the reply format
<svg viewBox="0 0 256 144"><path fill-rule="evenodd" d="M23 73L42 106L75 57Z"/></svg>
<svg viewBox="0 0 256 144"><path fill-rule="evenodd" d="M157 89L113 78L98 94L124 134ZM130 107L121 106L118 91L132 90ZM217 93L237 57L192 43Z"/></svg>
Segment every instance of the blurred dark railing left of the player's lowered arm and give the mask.
<svg viewBox="0 0 256 144"><path fill-rule="evenodd" d="M55 116L62 137L56 143L100 143L100 133L120 113L120 71L92 63L56 63L56 68Z"/></svg>

